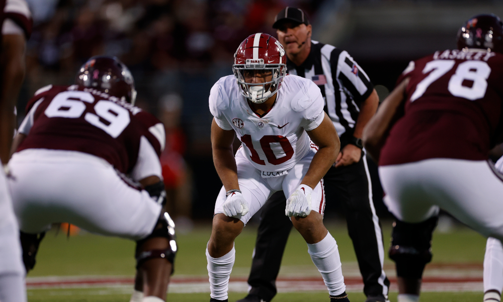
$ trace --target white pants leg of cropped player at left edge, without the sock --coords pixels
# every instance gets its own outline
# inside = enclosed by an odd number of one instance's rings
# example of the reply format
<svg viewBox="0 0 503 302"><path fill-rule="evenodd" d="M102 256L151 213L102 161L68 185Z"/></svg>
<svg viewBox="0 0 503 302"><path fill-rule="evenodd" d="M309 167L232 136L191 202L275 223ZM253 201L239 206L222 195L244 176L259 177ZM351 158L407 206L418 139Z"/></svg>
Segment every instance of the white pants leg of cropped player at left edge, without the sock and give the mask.
<svg viewBox="0 0 503 302"><path fill-rule="evenodd" d="M18 222L3 169L0 169L0 273L25 274Z"/></svg>

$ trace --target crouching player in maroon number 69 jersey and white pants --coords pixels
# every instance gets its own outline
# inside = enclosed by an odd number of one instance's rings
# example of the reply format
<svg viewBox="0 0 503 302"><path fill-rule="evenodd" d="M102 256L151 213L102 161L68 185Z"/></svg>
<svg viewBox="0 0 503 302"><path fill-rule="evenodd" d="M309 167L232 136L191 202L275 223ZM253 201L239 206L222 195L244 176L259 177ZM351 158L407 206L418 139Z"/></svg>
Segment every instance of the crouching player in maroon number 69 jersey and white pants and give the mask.
<svg viewBox="0 0 503 302"><path fill-rule="evenodd" d="M132 300L164 301L177 251L163 210L164 126L135 98L128 68L106 56L83 64L75 85L39 89L14 140L8 183L27 271L51 223L69 222L135 240L144 281Z"/></svg>

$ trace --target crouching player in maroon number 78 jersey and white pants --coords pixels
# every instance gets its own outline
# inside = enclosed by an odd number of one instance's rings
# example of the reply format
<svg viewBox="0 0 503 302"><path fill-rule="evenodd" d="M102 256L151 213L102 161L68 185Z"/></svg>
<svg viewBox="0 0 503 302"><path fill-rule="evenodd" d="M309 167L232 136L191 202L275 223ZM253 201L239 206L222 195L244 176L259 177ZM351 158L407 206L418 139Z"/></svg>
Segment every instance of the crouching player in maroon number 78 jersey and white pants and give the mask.
<svg viewBox="0 0 503 302"><path fill-rule="evenodd" d="M501 53L501 20L473 17L458 32L457 50L410 62L365 128L384 202L397 218L390 258L399 302L419 299L440 208L503 239L503 180L487 162L503 138Z"/></svg>

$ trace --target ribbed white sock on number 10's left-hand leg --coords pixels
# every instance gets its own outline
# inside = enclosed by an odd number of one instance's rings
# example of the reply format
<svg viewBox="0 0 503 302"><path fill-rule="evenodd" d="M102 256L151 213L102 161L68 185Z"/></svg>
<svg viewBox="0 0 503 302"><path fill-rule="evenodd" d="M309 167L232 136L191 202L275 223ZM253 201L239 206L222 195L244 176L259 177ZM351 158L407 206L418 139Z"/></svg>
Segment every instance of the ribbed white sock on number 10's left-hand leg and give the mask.
<svg viewBox="0 0 503 302"><path fill-rule="evenodd" d="M213 258L206 247L206 260L208 261L208 276L210 277L210 297L218 300L228 299L229 277L236 259L236 250L232 250L220 258Z"/></svg>

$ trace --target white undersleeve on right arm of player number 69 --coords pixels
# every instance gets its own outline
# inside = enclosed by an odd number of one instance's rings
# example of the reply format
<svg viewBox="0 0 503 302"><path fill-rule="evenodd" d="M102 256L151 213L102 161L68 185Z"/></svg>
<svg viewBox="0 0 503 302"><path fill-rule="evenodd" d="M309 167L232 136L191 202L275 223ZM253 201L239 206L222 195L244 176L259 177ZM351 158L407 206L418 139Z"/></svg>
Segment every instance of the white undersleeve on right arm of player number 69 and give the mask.
<svg viewBox="0 0 503 302"><path fill-rule="evenodd" d="M157 176L162 179L162 168L154 147L145 136L141 136L138 160L131 171L131 178L134 181L140 181L148 176Z"/></svg>

